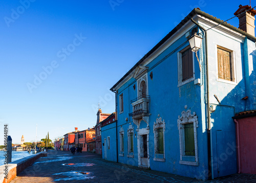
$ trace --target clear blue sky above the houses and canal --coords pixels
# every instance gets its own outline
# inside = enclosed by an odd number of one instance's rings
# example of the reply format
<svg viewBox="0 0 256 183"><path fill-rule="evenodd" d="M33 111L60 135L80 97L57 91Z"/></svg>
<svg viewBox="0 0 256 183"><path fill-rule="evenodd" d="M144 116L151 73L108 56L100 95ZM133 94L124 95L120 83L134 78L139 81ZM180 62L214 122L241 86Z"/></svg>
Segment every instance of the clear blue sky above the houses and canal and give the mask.
<svg viewBox="0 0 256 183"><path fill-rule="evenodd" d="M98 103L115 111L109 88L194 7L226 20L241 3L0 1L0 137L4 124L13 143L34 141L36 123L37 140L95 126Z"/></svg>

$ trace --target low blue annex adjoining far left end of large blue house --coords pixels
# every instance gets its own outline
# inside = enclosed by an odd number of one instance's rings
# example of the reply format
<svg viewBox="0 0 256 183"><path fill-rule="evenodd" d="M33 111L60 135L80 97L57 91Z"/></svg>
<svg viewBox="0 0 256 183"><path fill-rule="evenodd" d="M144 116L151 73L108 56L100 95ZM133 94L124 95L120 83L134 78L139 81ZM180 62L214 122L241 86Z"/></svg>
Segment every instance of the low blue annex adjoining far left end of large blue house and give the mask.
<svg viewBox="0 0 256 183"><path fill-rule="evenodd" d="M112 162L117 161L117 152L113 152L113 149L116 149L116 136L116 120L113 112L101 122L102 158Z"/></svg>

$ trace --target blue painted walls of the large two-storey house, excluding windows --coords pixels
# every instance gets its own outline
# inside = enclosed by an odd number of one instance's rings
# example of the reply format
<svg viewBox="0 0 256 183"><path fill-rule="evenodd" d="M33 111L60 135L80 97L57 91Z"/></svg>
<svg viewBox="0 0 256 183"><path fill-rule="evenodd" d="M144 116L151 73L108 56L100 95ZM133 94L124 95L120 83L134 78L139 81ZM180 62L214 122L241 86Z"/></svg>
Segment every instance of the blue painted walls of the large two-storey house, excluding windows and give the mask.
<svg viewBox="0 0 256 183"><path fill-rule="evenodd" d="M188 29L187 31L190 31ZM231 117L236 112L255 109L256 104L256 75L255 75L255 43L247 38L234 39L215 30L207 31L208 34L208 66L209 66L209 100L210 105L215 105L216 110L211 113L211 137L214 177L225 176L237 172L236 157L236 129ZM207 112L206 112L206 70L205 70L205 43L198 52L202 64L202 71L196 57L194 58L195 79L200 79L200 85L191 81L178 86L178 57L177 54L189 44L185 35L173 42L166 50L161 52L147 66L148 95L150 95L149 117L149 159L150 168L153 170L178 174L182 176L206 179L208 173L207 152ZM232 50L234 56L235 82L226 82L218 79L217 46ZM168 55L168 57L166 57ZM150 73L153 72L153 79ZM134 86L135 85L135 89ZM118 155L118 162L138 166L137 150L137 125L133 123L129 113L133 112L131 100L138 97L137 82L131 78L118 88L117 92L117 132L118 154L120 153L119 131L124 129L124 154ZM124 111L119 111L119 96L123 94ZM220 101L214 97L216 95ZM242 100L249 96L249 100ZM187 106L187 109L184 106ZM177 127L178 116L183 110L190 109L198 116L197 140L199 166L180 164L179 130ZM165 162L154 161L154 133L153 125L158 115L165 121ZM125 119L128 119L127 121ZM127 156L127 129L134 127L134 157ZM140 128L145 128L143 122ZM103 140L102 140L103 142Z"/></svg>

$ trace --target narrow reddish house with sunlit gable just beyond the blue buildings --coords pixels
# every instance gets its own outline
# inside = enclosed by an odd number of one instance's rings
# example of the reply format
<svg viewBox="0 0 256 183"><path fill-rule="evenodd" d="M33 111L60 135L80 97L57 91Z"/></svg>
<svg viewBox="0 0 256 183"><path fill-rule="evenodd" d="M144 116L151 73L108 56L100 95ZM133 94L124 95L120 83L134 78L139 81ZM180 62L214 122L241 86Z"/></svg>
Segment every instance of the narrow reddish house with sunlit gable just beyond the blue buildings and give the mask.
<svg viewBox="0 0 256 183"><path fill-rule="evenodd" d="M101 109L97 112L97 123L95 126L95 138L96 138L96 154L102 154L101 150L101 126L102 121L104 121L106 118L108 118L111 114L110 113L102 113Z"/></svg>

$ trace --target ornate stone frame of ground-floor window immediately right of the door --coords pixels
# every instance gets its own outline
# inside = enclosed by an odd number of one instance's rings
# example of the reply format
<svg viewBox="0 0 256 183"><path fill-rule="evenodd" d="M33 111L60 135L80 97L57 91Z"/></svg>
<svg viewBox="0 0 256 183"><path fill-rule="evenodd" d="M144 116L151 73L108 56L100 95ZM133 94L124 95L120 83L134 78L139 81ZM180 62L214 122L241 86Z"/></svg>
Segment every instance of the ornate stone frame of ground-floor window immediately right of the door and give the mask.
<svg viewBox="0 0 256 183"><path fill-rule="evenodd" d="M163 128L163 155L160 158L157 155L157 146L158 146L158 132L157 129L158 128ZM153 125L153 133L154 133L154 150L155 150L155 157L154 157L154 161L158 161L158 162L165 162L165 140L164 140L164 132L165 132L165 122L164 120L162 121L162 118L160 117L160 115L158 115L158 118L156 119L156 122L154 122Z"/></svg>

